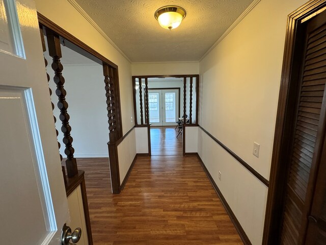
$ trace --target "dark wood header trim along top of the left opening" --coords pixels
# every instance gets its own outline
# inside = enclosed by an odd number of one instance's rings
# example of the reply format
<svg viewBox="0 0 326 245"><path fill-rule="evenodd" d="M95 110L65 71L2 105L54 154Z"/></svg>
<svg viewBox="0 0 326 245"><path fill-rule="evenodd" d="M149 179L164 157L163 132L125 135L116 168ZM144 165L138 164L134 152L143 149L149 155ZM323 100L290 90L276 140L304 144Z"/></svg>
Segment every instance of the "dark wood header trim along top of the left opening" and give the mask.
<svg viewBox="0 0 326 245"><path fill-rule="evenodd" d="M106 64L108 64L114 68L118 68L118 66L115 63L108 60L107 58L102 56L97 51L93 50L93 48L91 48L84 42L80 41L79 39L77 39L76 37L74 37L73 35L68 33L67 31L65 31L63 28L59 27L55 22L52 22L51 20L46 18L41 13L38 12L37 17L38 17L39 23L41 23L43 26L51 29L52 31L56 32L64 39L66 39L66 41L65 41L66 46L68 46L72 50L76 51L77 53L79 53L81 55L84 55L85 57L95 61L96 63L98 63L100 65L102 65L103 62L105 62ZM70 43L67 41L73 43L74 45L73 46L69 45Z"/></svg>

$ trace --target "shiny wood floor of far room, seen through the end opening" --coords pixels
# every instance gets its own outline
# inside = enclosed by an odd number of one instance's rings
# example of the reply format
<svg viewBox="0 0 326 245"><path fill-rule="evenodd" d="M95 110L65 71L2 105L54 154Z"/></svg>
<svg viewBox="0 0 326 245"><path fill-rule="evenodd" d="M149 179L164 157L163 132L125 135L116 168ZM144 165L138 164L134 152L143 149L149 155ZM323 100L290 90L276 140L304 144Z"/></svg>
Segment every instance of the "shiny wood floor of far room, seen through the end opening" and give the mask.
<svg viewBox="0 0 326 245"><path fill-rule="evenodd" d="M152 156L182 156L182 135L171 127L151 127Z"/></svg>

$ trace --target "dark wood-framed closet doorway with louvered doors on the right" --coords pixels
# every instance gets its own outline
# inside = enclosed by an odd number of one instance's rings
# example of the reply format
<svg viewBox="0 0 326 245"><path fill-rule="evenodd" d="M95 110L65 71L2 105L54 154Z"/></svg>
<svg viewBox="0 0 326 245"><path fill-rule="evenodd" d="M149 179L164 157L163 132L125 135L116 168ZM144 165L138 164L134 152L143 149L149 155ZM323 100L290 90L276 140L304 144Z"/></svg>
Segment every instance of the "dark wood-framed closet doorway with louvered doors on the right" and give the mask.
<svg viewBox="0 0 326 245"><path fill-rule="evenodd" d="M325 6L289 15L263 244L326 239Z"/></svg>

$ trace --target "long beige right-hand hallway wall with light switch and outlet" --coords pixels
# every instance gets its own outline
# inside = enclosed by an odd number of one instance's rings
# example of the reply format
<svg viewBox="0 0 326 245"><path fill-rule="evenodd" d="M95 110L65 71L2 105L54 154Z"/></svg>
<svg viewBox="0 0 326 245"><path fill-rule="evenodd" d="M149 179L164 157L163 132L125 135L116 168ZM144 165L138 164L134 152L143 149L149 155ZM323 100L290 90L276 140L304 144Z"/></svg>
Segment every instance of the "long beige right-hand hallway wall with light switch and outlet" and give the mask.
<svg viewBox="0 0 326 245"><path fill-rule="evenodd" d="M262 0L199 64L199 124L266 179L287 15L305 2ZM253 244L261 244L267 187L201 130L199 140L199 154L240 224ZM252 154L254 141L260 144L259 158Z"/></svg>

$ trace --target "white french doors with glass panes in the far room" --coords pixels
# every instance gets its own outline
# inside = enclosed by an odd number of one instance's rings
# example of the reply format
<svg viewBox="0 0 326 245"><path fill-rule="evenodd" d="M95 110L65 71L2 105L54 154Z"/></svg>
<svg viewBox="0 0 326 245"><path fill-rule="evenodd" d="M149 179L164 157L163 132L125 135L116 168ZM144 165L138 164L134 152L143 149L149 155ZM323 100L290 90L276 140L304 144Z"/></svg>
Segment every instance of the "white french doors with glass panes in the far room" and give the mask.
<svg viewBox="0 0 326 245"><path fill-rule="evenodd" d="M178 89L148 90L149 123L153 126L175 126L179 117Z"/></svg>

